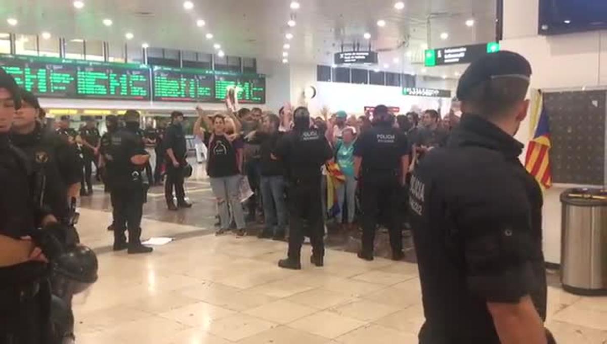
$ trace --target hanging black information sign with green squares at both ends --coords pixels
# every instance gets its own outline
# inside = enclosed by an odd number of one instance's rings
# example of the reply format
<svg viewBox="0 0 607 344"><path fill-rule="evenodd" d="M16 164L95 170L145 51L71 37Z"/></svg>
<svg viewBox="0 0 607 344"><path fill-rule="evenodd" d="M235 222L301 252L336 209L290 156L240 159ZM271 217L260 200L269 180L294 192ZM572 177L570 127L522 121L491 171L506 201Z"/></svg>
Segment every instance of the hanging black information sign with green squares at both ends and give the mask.
<svg viewBox="0 0 607 344"><path fill-rule="evenodd" d="M472 46L459 46L441 49L426 50L424 64L426 67L443 66L445 64L470 63L484 55L500 51L500 44L490 42L487 44L473 44Z"/></svg>

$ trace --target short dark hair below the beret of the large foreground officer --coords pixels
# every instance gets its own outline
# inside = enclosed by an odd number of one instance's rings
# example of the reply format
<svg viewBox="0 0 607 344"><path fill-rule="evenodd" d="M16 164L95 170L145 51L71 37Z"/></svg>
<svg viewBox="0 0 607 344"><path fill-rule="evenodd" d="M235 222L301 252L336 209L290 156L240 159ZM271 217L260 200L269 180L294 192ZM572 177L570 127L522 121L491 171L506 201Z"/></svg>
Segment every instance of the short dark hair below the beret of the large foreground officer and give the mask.
<svg viewBox="0 0 607 344"><path fill-rule="evenodd" d="M473 87L461 103L469 112L493 118L512 110L518 102L523 101L528 88L529 81L525 79L502 76Z"/></svg>

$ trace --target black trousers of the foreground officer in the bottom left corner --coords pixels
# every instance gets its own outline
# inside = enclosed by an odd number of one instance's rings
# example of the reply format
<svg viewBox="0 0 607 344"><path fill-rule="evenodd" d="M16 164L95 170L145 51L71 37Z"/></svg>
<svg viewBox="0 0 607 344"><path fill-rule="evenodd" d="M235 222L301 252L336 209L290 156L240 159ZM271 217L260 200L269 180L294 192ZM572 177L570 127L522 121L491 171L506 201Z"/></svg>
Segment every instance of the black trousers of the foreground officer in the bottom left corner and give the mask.
<svg viewBox="0 0 607 344"><path fill-rule="evenodd" d="M0 310L1 344L54 344L48 280L0 289Z"/></svg>

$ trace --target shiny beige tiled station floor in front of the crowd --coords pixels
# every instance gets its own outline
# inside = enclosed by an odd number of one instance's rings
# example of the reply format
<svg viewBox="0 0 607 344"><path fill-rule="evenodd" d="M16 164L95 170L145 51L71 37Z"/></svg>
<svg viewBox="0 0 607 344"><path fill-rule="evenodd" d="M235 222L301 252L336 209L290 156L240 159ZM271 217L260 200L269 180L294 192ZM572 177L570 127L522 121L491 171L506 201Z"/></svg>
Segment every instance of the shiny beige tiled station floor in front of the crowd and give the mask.
<svg viewBox="0 0 607 344"><path fill-rule="evenodd" d="M328 249L326 266L316 268L304 246L303 270L285 271L276 261L286 243L205 235L213 229L212 197L195 195L188 211L163 211L161 196L146 205L144 236L180 240L150 255L101 250L98 282L75 299L78 343L417 343L423 312L415 264ZM82 241L93 248L111 243L105 198L98 192L81 209ZM547 326L558 343L607 343L607 298L551 286Z"/></svg>

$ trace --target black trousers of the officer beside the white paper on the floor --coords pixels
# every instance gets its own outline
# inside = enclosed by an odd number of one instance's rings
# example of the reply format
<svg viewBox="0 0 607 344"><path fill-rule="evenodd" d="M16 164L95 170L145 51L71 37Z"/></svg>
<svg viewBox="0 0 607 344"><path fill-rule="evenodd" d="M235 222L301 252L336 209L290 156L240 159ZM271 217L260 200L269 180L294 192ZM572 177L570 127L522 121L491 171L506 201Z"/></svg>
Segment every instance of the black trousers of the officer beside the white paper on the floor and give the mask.
<svg viewBox="0 0 607 344"><path fill-rule="evenodd" d="M143 216L143 185L139 182L112 185L112 215L114 216L114 243L124 243L129 231L129 246L141 244L141 217Z"/></svg>

